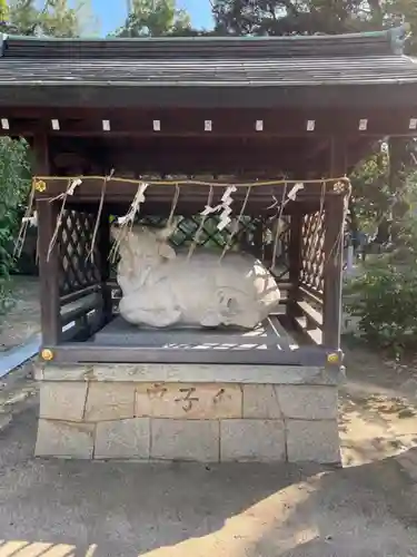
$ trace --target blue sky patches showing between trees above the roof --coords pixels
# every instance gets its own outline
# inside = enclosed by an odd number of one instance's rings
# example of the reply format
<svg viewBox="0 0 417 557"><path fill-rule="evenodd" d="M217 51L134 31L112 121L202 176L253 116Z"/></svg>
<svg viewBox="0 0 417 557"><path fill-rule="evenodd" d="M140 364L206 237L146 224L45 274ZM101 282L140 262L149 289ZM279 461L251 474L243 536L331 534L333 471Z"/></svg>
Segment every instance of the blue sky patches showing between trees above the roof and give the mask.
<svg viewBox="0 0 417 557"><path fill-rule="evenodd" d="M92 0L91 3L100 21L100 35L106 36L122 25L126 17L126 0ZM211 27L209 0L177 0L177 7L188 11L193 27Z"/></svg>

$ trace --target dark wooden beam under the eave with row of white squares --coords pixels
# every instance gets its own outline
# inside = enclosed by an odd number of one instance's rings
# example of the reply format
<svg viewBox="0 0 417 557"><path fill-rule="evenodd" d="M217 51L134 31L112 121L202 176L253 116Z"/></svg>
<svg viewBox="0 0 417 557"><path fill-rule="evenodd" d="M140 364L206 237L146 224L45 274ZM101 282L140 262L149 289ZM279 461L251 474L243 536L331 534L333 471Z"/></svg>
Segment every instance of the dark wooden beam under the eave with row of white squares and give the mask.
<svg viewBox="0 0 417 557"><path fill-rule="evenodd" d="M49 134L58 137L384 137L415 136L415 109L90 109L1 110L9 129L3 135ZM153 121L160 129L153 129ZM211 130L205 121L211 121ZM257 121L262 128L257 129ZM103 121L108 125L103 126ZM56 124L59 124L58 127Z"/></svg>

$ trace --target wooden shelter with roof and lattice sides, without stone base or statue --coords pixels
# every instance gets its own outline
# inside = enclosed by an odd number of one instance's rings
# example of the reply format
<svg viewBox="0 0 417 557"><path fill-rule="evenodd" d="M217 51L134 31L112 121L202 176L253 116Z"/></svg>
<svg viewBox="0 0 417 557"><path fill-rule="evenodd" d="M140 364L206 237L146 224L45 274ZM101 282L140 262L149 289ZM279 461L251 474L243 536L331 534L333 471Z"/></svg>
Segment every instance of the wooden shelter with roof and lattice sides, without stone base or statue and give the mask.
<svg viewBox="0 0 417 557"><path fill-rule="evenodd" d="M26 137L37 160L44 358L339 365L345 176L375 141L416 134L417 65L404 53L406 33L4 36L1 131ZM226 185L239 186L235 214L250 188L235 240L279 267L286 322L307 333L306 343L250 353L95 345L115 316L110 215L126 213L141 180L150 187L140 218L153 224L167 218L179 188L182 241L196 231L210 186L215 201ZM286 199L297 180L302 190ZM285 225L272 262L278 214ZM88 303L68 310L80 300ZM69 322L77 326L62 332Z"/></svg>

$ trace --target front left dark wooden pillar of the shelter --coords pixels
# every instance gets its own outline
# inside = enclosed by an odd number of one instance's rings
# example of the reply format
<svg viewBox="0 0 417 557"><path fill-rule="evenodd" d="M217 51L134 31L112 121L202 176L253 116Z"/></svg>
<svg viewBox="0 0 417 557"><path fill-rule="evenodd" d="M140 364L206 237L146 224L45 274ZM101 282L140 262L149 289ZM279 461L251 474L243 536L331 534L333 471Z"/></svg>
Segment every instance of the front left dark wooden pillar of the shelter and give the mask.
<svg viewBox="0 0 417 557"><path fill-rule="evenodd" d="M47 176L50 170L48 137L33 137L34 175ZM40 307L42 344L52 346L61 338L59 300L59 246L54 245L48 257L49 245L57 225L59 206L49 199L37 201L38 254L40 278Z"/></svg>

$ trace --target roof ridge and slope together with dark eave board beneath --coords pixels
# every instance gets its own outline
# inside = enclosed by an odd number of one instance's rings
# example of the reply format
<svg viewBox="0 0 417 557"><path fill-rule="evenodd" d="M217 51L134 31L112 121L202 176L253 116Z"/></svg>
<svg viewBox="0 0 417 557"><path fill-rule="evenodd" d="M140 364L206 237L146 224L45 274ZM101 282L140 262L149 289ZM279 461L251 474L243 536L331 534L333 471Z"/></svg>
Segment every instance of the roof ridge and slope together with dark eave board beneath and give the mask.
<svg viewBox="0 0 417 557"><path fill-rule="evenodd" d="M0 106L54 108L414 107L405 29L269 38L6 37Z"/></svg>

